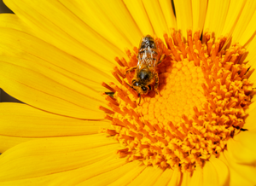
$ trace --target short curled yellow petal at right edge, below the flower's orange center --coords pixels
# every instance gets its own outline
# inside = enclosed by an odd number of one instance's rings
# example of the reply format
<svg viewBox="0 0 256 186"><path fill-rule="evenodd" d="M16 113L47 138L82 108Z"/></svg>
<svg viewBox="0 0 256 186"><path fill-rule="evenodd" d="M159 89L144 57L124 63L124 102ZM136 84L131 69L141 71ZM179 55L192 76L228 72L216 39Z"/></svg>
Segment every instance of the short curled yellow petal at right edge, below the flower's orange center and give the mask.
<svg viewBox="0 0 256 186"><path fill-rule="evenodd" d="M256 150L250 150L242 145L241 142L236 142L235 140L230 139L228 141L227 148L233 155L234 159L236 159L237 163L247 165L254 165L256 163Z"/></svg>

